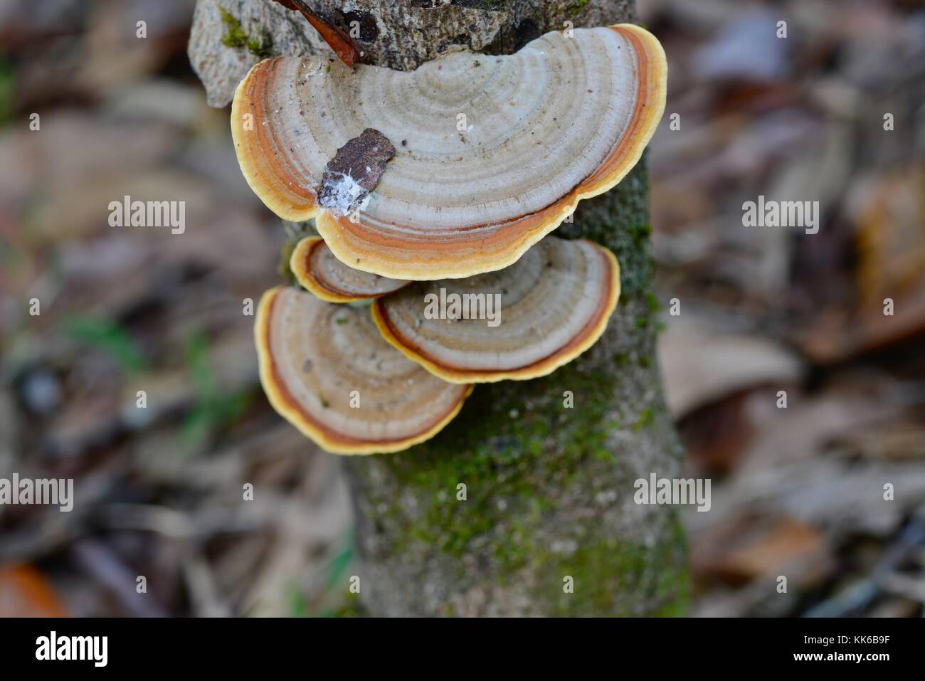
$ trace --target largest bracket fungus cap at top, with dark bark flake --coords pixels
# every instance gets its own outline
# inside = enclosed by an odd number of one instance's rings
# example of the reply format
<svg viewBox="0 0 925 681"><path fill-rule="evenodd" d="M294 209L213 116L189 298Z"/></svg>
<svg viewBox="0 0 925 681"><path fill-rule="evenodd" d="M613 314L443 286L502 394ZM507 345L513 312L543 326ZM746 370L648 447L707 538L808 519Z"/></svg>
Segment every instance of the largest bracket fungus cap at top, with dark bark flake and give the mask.
<svg viewBox="0 0 925 681"><path fill-rule="evenodd" d="M658 40L630 24L550 32L509 56L451 52L414 71L277 57L240 82L231 129L254 192L280 217L316 216L345 264L457 279L511 265L622 180L659 123L666 77ZM366 203L338 215L317 192L366 129L395 157Z"/></svg>

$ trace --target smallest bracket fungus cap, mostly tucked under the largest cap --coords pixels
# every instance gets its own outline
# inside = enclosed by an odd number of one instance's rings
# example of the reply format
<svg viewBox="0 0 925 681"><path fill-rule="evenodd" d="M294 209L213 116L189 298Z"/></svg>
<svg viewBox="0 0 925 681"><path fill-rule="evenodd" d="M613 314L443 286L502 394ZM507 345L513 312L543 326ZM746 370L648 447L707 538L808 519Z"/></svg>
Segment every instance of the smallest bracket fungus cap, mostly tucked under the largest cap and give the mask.
<svg viewBox="0 0 925 681"><path fill-rule="evenodd" d="M290 269L302 286L327 303L354 303L393 293L411 282L386 279L341 263L321 237L305 237L290 257Z"/></svg>

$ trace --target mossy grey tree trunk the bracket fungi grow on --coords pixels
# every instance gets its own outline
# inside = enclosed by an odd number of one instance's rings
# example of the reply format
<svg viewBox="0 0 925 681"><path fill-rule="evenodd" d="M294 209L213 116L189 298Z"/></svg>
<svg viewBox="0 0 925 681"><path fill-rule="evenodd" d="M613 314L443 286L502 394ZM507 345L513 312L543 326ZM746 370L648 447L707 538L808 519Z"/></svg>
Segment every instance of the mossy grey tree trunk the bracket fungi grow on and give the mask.
<svg viewBox="0 0 925 681"><path fill-rule="evenodd" d="M427 4L309 3L331 20L344 12L347 19L375 17L375 35L367 28L362 44L376 63L391 68L413 68L449 43L511 52L542 32L561 29L566 20L575 27L633 20L628 0L453 0L436 9L415 8ZM211 76L203 75L208 69L197 72L210 102L223 105L223 96L213 96L221 90L216 82L240 79L256 57L239 58L231 70L215 68L228 50L220 43L221 26L208 25L215 5L199 0L190 54L194 66L197 60L199 67L211 65ZM222 6L243 13L246 30L254 30L255 21L271 31L278 53L325 49L290 40L298 31L288 23L279 28L279 21L302 19L286 17L288 10L270 0L228 0ZM455 38L448 43L447 36ZM606 333L546 378L476 387L461 414L433 440L407 452L344 460L356 509L364 612L685 611L678 514L670 506L633 500L637 478L676 477L682 453L655 361L658 303L651 290L643 164L611 192L579 204L573 224L563 224L557 234L586 237L617 254L623 291Z"/></svg>

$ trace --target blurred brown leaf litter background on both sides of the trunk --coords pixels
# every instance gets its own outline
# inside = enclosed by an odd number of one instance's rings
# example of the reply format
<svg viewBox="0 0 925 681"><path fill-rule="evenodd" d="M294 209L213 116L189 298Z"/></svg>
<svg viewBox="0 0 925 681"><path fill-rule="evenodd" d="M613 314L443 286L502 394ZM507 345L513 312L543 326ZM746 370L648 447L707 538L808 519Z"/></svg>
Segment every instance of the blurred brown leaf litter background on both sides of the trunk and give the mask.
<svg viewBox="0 0 925 681"><path fill-rule="evenodd" d="M338 460L257 380L242 302L285 234L192 74L193 5L0 2L0 477L76 478L71 513L0 506L0 615L356 613ZM648 153L660 363L712 479L685 511L692 612L921 616L925 6L639 12L671 73ZM126 194L185 199L188 229L109 227ZM743 227L759 194L819 201L819 233Z"/></svg>

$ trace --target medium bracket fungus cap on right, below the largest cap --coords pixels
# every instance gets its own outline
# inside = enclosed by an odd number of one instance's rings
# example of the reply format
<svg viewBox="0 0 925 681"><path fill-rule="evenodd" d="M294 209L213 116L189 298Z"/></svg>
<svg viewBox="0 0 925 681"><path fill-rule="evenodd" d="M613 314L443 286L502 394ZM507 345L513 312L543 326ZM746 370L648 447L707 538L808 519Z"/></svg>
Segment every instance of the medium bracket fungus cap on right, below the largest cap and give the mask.
<svg viewBox="0 0 925 681"><path fill-rule="evenodd" d="M497 272L416 282L376 299L373 318L435 376L485 383L546 376L571 362L598 341L619 297L609 250L547 237Z"/></svg>

